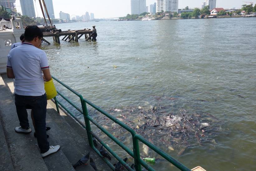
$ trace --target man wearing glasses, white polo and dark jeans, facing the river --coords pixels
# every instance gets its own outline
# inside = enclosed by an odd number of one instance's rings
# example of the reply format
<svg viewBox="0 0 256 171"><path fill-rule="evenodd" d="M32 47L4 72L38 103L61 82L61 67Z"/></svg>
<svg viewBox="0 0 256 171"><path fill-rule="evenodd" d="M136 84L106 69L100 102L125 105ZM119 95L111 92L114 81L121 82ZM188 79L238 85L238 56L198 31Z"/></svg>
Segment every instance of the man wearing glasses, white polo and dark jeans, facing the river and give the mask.
<svg viewBox="0 0 256 171"><path fill-rule="evenodd" d="M24 33L25 42L13 48L8 54L7 77L15 78L15 105L20 126L17 133L31 133L27 108L33 111L38 147L41 156L46 157L59 150L50 146L46 135L46 93L44 81L51 80L46 53L39 49L43 33L37 26L28 26Z"/></svg>

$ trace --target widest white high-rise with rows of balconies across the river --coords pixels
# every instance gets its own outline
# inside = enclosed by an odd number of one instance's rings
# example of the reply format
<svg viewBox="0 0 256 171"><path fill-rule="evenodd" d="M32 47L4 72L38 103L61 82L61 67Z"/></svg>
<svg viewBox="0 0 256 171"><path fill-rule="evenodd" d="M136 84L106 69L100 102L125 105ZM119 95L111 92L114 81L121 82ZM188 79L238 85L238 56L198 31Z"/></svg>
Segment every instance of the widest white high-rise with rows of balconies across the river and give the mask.
<svg viewBox="0 0 256 171"><path fill-rule="evenodd" d="M157 12L178 12L179 0L157 0Z"/></svg>

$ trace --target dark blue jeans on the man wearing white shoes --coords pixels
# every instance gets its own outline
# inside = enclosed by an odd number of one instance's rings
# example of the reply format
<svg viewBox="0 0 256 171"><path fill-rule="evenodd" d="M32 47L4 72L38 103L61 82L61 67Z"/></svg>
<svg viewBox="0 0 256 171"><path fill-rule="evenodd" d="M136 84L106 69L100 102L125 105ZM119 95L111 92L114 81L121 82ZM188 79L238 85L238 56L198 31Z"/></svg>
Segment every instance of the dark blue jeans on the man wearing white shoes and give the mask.
<svg viewBox="0 0 256 171"><path fill-rule="evenodd" d="M34 115L38 147L41 153L47 152L50 146L46 135L46 94L42 96L22 96L15 94L15 105L20 126L24 129L29 127L27 108L31 108Z"/></svg>

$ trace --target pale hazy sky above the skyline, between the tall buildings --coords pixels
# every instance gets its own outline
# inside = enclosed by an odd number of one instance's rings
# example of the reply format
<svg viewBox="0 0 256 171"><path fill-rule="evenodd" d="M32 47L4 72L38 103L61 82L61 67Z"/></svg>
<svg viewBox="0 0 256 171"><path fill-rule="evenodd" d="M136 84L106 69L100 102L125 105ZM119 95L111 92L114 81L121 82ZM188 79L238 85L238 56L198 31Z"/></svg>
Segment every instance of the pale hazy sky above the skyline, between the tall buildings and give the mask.
<svg viewBox="0 0 256 171"><path fill-rule="evenodd" d="M255 0L253 0L255 1ZM252 1L252 2L253 2ZM35 1L33 0L34 4ZM146 0L148 8L150 4L155 3L156 0ZM179 9L185 8L200 8L204 0L179 0ZM249 2L247 0L247 2ZM216 8L241 8L244 3L243 0L217 0ZM254 3L255 4L255 3ZM22 12L19 7L19 0L16 0L17 11ZM114 18L124 17L131 14L131 1L130 0L53 0L53 8L55 18L59 18L60 11L70 14L70 18L74 15L82 16L85 12L94 13L94 18ZM36 0L35 4L36 17L42 17L39 1ZM149 9L148 9L149 10ZM73 16L72 16L73 15Z"/></svg>

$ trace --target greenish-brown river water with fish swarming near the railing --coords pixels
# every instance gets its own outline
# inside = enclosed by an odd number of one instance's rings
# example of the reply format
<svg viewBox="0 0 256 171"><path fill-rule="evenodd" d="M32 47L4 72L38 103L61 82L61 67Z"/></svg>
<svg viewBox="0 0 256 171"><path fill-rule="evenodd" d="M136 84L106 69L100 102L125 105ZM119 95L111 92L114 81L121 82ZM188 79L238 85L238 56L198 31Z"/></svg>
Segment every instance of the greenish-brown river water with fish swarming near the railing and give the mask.
<svg viewBox="0 0 256 171"><path fill-rule="evenodd" d="M256 170L255 17L55 25L63 31L96 25L98 37L60 44L46 38L51 45L42 49L53 76L188 168ZM127 131L88 109L131 148ZM145 145L140 152L161 158ZM151 166L177 170L165 160Z"/></svg>

